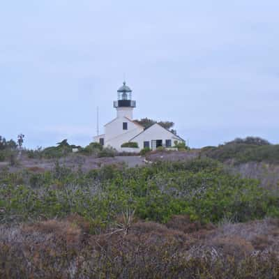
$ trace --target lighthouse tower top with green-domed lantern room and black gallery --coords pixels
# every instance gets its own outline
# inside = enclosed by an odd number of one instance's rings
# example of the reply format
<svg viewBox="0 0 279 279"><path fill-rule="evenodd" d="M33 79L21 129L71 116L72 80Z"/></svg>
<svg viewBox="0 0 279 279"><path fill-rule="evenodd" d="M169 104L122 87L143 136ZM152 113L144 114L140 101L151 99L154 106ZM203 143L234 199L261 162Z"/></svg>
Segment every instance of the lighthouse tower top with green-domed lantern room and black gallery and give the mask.
<svg viewBox="0 0 279 279"><path fill-rule="evenodd" d="M117 90L117 97L118 100L114 100L117 117L125 116L133 120L135 100L132 100L132 90L126 85L126 82L123 82L123 85Z"/></svg>

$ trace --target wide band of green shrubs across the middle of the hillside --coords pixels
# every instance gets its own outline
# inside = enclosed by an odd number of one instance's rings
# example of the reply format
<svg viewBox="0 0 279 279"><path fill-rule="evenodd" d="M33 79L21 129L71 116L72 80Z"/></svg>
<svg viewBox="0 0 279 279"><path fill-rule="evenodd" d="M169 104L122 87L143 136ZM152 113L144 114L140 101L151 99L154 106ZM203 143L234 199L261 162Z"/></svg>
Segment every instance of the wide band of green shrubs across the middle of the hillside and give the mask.
<svg viewBox="0 0 279 279"><path fill-rule="evenodd" d="M0 186L0 215L8 220L76 212L109 224L127 206L140 218L162 223L177 214L206 223L279 214L277 193L264 190L259 181L228 174L210 159L129 169L109 165L85 174L56 163L42 174L0 172Z"/></svg>

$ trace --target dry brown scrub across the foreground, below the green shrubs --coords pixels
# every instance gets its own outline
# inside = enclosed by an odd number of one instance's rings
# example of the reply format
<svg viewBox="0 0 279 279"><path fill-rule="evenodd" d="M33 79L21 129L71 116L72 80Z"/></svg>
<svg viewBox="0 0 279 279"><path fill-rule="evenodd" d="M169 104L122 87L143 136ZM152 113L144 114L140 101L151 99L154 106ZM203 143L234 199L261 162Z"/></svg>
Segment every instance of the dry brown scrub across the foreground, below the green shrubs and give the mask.
<svg viewBox="0 0 279 279"><path fill-rule="evenodd" d="M264 277L269 270L279 274L279 226L274 219L213 227L174 216L167 225L132 222L126 233L91 235L89 228L76 214L66 220L0 226L0 278L199 278L197 272L204 278L247 278L239 277L242 272L250 274L248 278L276 278ZM264 266L261 273L259 266Z"/></svg>

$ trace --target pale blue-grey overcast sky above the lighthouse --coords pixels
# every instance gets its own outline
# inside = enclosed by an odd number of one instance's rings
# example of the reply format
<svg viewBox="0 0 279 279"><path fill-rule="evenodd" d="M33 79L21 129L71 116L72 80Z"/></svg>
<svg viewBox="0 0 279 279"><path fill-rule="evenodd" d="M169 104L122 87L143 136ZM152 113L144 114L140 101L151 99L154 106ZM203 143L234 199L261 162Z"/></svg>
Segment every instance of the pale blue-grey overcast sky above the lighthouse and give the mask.
<svg viewBox="0 0 279 279"><path fill-rule="evenodd" d="M278 0L9 0L0 4L0 135L89 144L126 76L135 119L190 146L278 143Z"/></svg>

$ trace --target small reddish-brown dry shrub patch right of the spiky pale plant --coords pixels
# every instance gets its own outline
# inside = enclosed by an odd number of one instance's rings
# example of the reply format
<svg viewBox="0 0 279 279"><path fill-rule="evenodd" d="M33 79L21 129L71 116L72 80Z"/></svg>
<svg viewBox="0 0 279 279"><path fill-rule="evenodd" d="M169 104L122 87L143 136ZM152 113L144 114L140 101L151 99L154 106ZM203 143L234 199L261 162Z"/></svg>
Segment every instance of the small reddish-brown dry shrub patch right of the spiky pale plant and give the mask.
<svg viewBox="0 0 279 279"><path fill-rule="evenodd" d="M177 229L185 234L191 234L199 230L206 232L215 228L211 223L202 225L199 221L192 222L188 215L173 216L169 222L167 222L167 227Z"/></svg>

